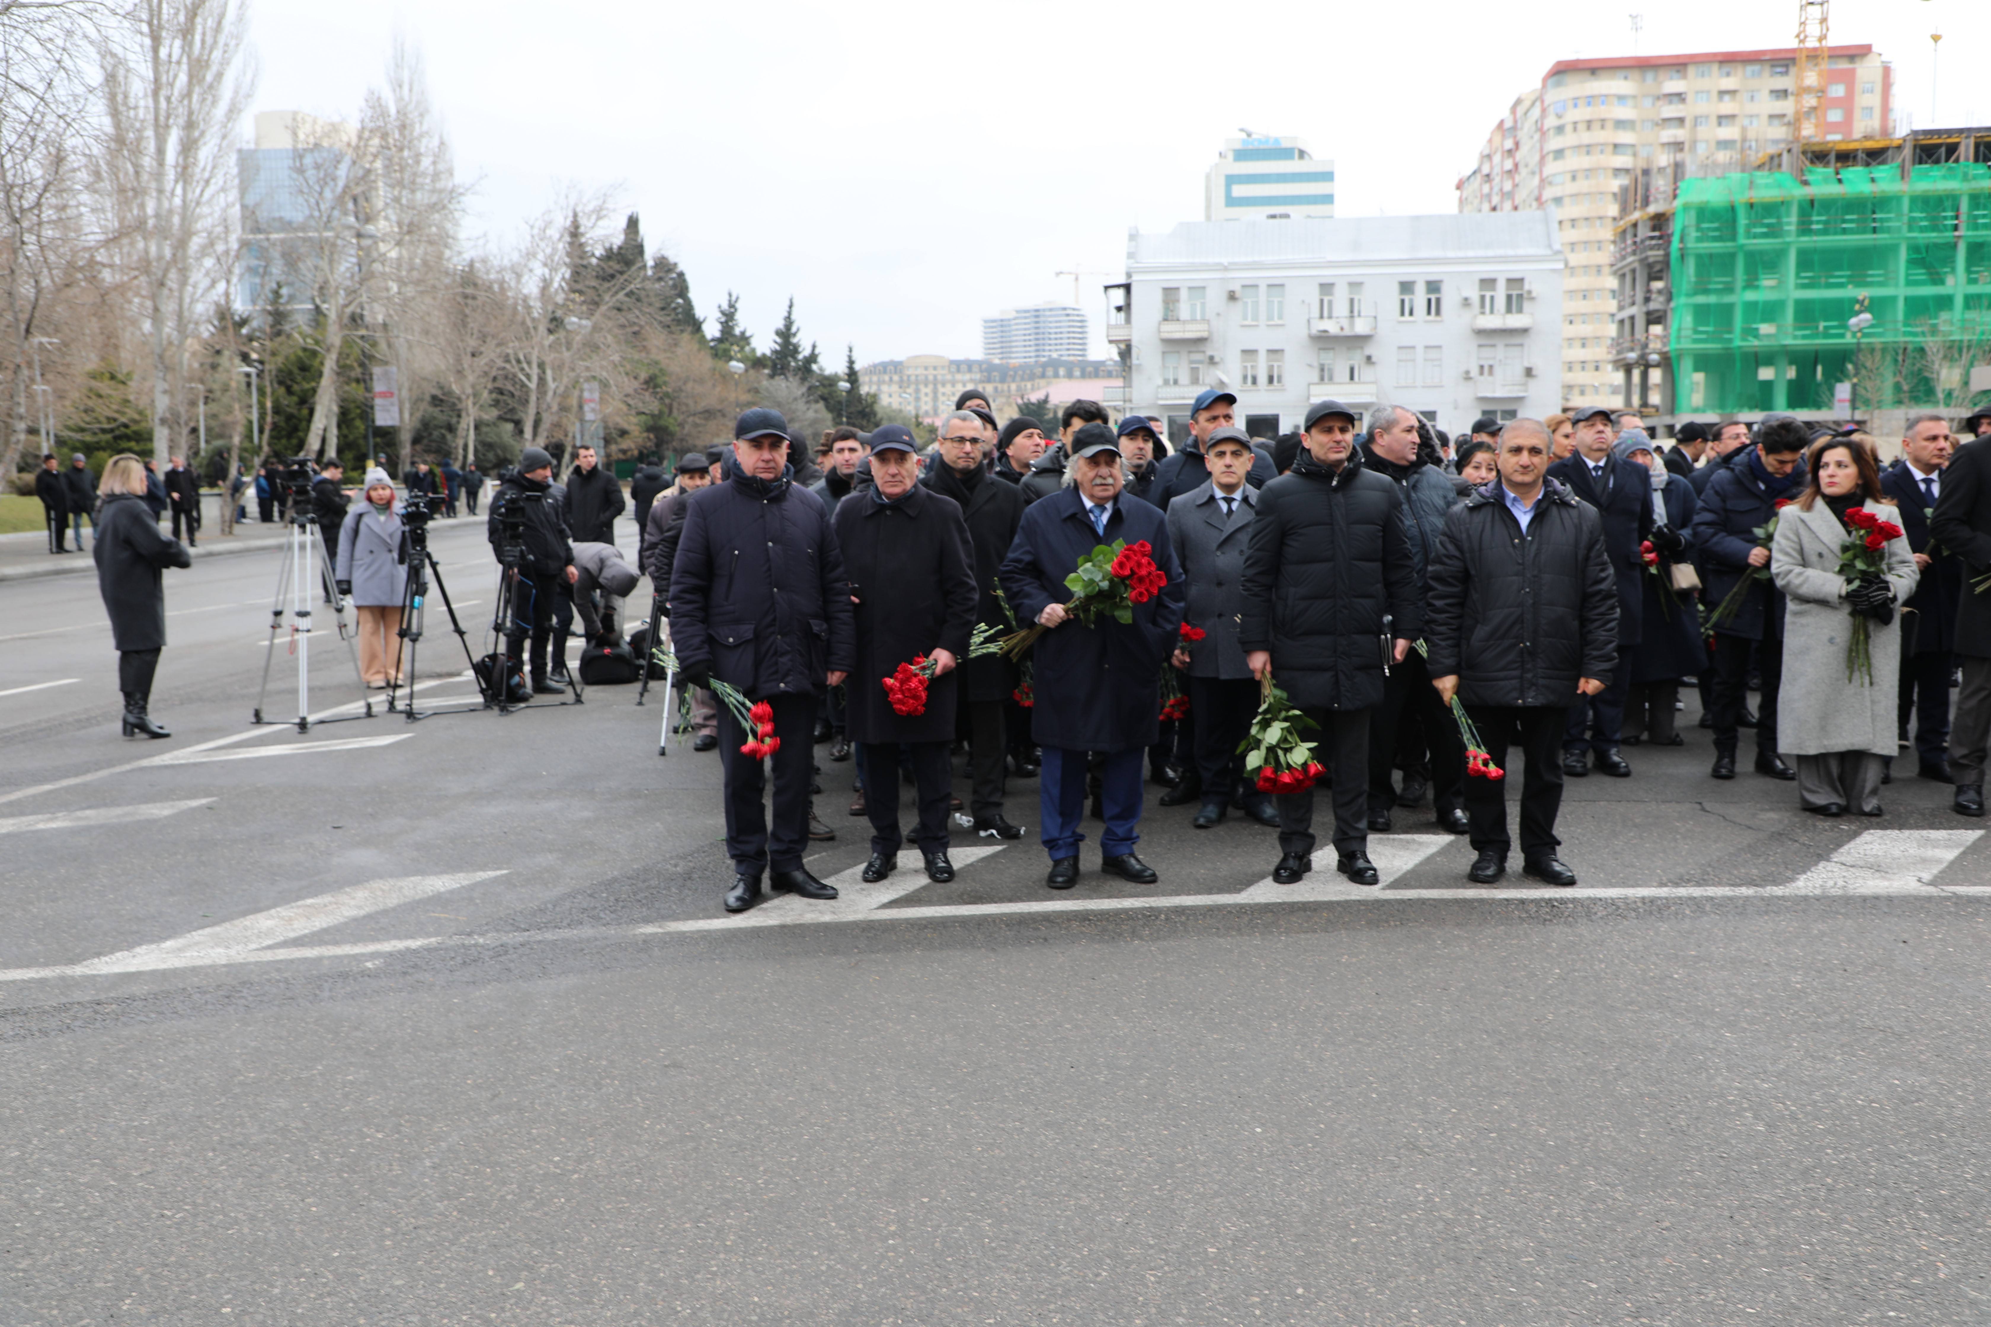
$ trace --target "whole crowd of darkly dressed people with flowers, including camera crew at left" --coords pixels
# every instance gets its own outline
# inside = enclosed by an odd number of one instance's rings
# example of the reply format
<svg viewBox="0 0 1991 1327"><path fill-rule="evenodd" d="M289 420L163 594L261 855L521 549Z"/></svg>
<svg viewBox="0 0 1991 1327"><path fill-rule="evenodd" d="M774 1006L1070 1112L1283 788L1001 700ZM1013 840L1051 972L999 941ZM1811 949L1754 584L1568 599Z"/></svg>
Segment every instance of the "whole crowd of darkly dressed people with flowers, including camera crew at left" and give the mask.
<svg viewBox="0 0 1991 1327"><path fill-rule="evenodd" d="M1738 776L1754 732L1754 774L1794 782L1806 812L1881 816L1895 758L1913 750L1915 776L1983 816L1991 412L1965 420L1967 446L1943 416L1911 418L1881 468L1868 434L1778 414L1684 424L1662 444L1637 414L1597 406L1479 420L1453 442L1404 408L1322 400L1298 432L1258 440L1234 408L1203 392L1171 448L1159 418L1113 424L1077 400L1055 422L997 424L970 392L928 450L902 426L808 448L755 408L731 446L671 475L643 466L627 495L593 448L563 481L528 448L488 517L496 549L500 511L522 513L500 623L516 670L496 684L514 704L561 694L569 635L587 655L619 651L629 676L631 627L645 655L667 643L695 750L723 764L729 911L753 907L763 879L834 897L802 863L810 840L834 838L814 804L818 744L852 766L866 879L898 869L906 838L928 877L952 879L956 822L1023 838L1009 784L1035 778L1051 889L1077 883L1087 818L1101 871L1159 879L1137 853L1149 784L1161 808L1195 808L1197 830L1230 816L1276 830L1272 877L1292 883L1314 869L1318 778L1334 867L1356 883L1380 881L1368 836L1426 804L1475 850L1469 877L1501 879L1513 782L1521 873L1573 885L1555 830L1565 782L1633 778L1629 748L1686 744L1684 688L1714 780ZM46 458L38 475L64 513L52 547L82 541L68 517L90 487L80 466ZM185 565L197 529L189 515L183 545L179 472L175 458L161 483L117 458L88 493L133 736L165 736L147 714L159 569ZM476 511L472 475L424 466L404 483ZM615 547L631 505L635 565ZM336 559L327 589L360 611L362 672L396 684L394 483L370 468L354 505L327 462L311 513ZM1157 575L1115 613L1083 611L1071 589L1101 545L1139 549ZM629 623L639 573L655 613ZM1027 649L990 653L1025 629L1039 629ZM1246 738L1272 694L1312 746L1318 774L1300 786L1254 778ZM1489 776L1515 746L1519 778Z"/></svg>

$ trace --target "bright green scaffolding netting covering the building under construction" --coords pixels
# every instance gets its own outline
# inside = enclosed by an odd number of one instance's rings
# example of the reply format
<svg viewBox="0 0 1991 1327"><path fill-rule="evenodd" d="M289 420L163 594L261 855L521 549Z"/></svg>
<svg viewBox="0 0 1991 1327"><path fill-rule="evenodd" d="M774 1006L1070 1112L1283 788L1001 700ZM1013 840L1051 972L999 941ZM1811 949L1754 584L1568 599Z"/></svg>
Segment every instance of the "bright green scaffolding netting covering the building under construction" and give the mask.
<svg viewBox="0 0 1991 1327"><path fill-rule="evenodd" d="M1668 346L1678 412L1828 410L1856 380L1862 412L1937 400L1991 350L1991 167L1682 181Z"/></svg>

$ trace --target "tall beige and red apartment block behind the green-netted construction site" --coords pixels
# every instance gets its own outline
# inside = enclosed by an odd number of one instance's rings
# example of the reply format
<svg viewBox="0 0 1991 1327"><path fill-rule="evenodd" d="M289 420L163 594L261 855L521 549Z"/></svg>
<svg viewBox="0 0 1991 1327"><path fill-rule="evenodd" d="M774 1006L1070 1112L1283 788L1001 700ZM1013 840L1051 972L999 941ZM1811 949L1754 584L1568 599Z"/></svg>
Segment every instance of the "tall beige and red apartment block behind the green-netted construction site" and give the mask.
<svg viewBox="0 0 1991 1327"><path fill-rule="evenodd" d="M1495 125L1459 179L1459 211L1555 211L1569 263L1563 380L1571 404L1623 396L1611 273L1619 187L1641 167L1708 175L1784 149L1798 119L1796 76L1796 48L1559 60L1543 74L1533 113L1523 95ZM1830 48L1826 139L1885 135L1889 80L1872 46Z"/></svg>

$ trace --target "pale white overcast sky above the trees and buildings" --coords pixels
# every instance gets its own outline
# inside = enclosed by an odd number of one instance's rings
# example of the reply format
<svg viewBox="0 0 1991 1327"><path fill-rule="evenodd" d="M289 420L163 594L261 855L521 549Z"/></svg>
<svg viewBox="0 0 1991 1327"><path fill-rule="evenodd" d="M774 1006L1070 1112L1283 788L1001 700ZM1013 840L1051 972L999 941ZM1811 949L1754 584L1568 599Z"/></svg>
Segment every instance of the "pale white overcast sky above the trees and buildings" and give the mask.
<svg viewBox="0 0 1991 1327"><path fill-rule="evenodd" d="M1555 60L1788 46L1796 0L1668 4L587 6L249 0L255 109L356 113L404 36L428 66L470 243L565 185L613 187L711 316L739 290L759 344L794 296L824 360L976 356L982 318L1071 300L1101 338L1127 227L1203 219L1240 127L1332 159L1336 213L1455 209L1493 119ZM1941 32L1931 121L1929 34ZM1893 62L1913 125L1991 121L1991 4L1838 0L1836 44ZM245 127L247 133L247 127Z"/></svg>

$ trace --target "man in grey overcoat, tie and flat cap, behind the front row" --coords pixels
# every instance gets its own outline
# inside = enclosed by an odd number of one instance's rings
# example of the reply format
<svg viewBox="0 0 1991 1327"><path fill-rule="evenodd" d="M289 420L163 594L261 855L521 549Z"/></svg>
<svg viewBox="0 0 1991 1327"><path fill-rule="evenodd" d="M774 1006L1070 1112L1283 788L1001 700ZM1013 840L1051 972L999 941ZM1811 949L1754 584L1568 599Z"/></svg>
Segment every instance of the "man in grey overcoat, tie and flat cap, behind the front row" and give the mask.
<svg viewBox="0 0 1991 1327"><path fill-rule="evenodd" d="M1203 633L1175 651L1175 666L1189 672L1189 712L1197 716L1197 764L1183 774L1203 790L1191 822L1199 830L1222 822L1244 772L1238 742L1258 710L1258 680L1238 645L1244 613L1244 545L1258 513L1258 489L1246 483L1256 456L1240 428L1218 428L1203 440L1209 479L1169 503L1169 545L1183 563L1189 595L1185 627ZM1278 826L1272 798L1246 786L1244 814Z"/></svg>

